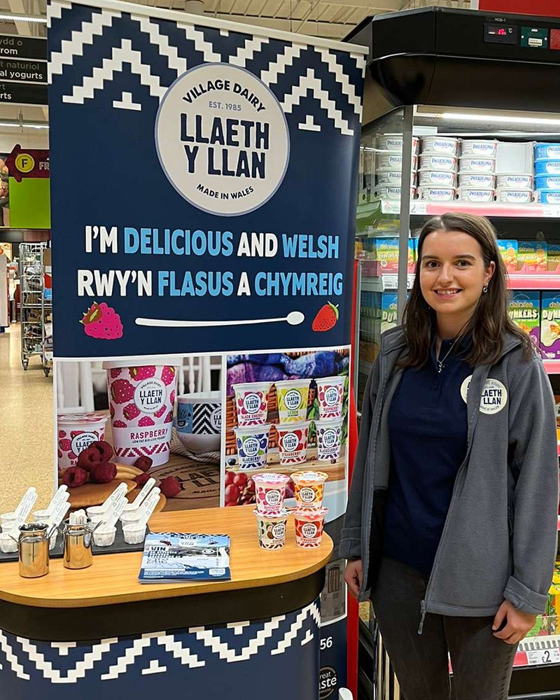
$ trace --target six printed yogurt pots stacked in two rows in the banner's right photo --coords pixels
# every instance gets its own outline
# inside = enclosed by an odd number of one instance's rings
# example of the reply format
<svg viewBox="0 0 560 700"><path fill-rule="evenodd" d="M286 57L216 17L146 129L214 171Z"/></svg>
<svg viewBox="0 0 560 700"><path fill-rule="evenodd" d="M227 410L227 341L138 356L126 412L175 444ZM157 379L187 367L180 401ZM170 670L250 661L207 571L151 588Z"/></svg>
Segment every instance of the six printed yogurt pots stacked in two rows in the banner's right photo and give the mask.
<svg viewBox="0 0 560 700"><path fill-rule="evenodd" d="M319 418L314 421L319 461L336 461L342 445L342 407L345 377L316 379ZM264 469L267 465L269 435L268 399L272 381L234 384L237 423L235 442L240 470ZM311 379L285 379L274 382L278 401L279 460L282 466L307 461L309 426L307 404ZM254 479L253 479L254 480Z"/></svg>

